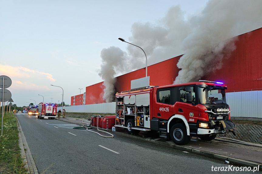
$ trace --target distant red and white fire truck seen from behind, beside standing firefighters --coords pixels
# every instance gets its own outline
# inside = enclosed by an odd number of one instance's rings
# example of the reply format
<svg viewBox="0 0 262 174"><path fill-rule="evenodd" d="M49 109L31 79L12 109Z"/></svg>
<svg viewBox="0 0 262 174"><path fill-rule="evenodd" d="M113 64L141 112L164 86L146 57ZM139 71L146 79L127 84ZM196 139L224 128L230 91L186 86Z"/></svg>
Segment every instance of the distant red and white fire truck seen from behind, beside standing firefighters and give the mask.
<svg viewBox="0 0 262 174"><path fill-rule="evenodd" d="M48 119L54 119L56 117L57 105L52 103L39 103L38 106L39 114L38 118L42 119L48 117Z"/></svg>

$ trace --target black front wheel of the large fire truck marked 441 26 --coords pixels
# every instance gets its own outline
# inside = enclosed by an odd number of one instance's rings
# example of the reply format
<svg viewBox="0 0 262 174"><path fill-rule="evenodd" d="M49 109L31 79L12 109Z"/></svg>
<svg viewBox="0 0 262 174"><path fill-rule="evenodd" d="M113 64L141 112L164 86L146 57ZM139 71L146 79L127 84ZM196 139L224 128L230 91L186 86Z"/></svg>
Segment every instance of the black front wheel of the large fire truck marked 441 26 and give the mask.
<svg viewBox="0 0 262 174"><path fill-rule="evenodd" d="M185 145L190 141L190 136L187 135L185 125L182 123L176 123L171 127L170 136L177 145Z"/></svg>

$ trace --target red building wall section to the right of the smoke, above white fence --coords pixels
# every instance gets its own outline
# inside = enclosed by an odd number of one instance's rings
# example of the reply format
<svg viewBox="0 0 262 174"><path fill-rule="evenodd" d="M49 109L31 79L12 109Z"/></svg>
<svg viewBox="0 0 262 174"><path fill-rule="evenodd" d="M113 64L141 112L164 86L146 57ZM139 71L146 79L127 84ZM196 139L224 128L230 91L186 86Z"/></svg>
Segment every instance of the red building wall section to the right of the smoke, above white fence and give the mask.
<svg viewBox="0 0 262 174"><path fill-rule="evenodd" d="M223 81L227 92L262 90L262 28L239 35L235 45L223 68L203 79Z"/></svg>

